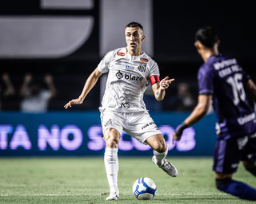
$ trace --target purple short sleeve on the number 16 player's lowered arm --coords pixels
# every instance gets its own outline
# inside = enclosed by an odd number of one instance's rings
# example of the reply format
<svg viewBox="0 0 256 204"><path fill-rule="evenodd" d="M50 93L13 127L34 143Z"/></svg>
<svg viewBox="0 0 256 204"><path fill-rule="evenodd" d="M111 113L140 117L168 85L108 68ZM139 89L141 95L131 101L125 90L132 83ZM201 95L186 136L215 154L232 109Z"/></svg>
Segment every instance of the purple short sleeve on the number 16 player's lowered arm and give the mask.
<svg viewBox="0 0 256 204"><path fill-rule="evenodd" d="M201 67L198 71L198 89L199 95L214 93L214 73L208 67Z"/></svg>

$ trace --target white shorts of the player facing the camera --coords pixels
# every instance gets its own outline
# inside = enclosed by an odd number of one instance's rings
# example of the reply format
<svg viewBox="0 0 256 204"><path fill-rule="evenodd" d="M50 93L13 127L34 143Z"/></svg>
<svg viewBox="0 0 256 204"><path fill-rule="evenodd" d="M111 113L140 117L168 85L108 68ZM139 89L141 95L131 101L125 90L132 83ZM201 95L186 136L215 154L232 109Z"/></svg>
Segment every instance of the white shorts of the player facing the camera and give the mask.
<svg viewBox="0 0 256 204"><path fill-rule="evenodd" d="M150 136L162 134L148 112L113 112L102 111L102 131L114 128L122 135L122 131L145 143Z"/></svg>

